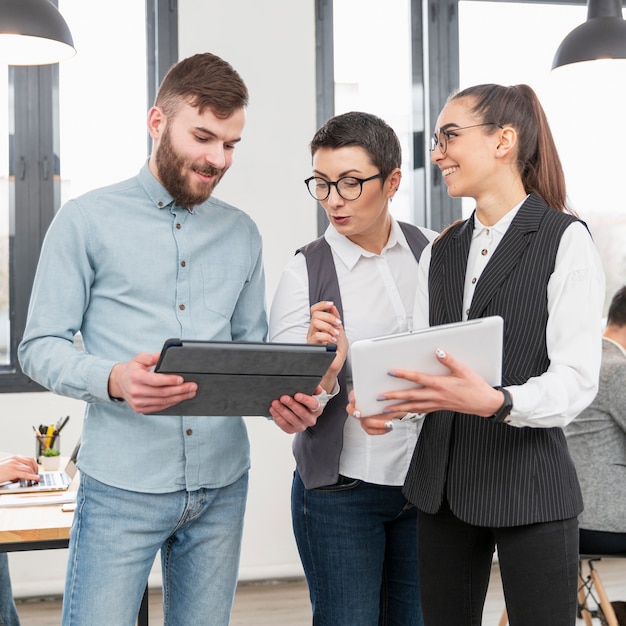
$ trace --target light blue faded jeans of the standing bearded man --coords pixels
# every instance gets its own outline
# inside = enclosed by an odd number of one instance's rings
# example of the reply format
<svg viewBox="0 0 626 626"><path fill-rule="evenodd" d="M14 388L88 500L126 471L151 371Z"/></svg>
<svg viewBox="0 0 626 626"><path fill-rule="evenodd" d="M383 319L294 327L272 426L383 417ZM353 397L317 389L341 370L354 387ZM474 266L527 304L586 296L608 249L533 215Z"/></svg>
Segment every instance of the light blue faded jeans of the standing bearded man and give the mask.
<svg viewBox="0 0 626 626"><path fill-rule="evenodd" d="M168 626L227 626L248 474L220 489L147 494L81 474L63 626L132 626L161 550Z"/></svg>

